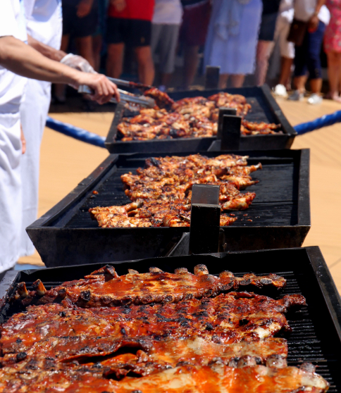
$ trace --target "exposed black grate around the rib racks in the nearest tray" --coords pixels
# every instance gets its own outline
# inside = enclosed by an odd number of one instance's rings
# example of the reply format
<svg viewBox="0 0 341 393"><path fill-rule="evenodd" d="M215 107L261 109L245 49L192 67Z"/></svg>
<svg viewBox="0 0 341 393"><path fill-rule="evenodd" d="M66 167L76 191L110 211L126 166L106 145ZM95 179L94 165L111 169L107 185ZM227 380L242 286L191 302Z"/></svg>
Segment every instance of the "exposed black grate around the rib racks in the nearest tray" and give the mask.
<svg viewBox="0 0 341 393"><path fill-rule="evenodd" d="M242 277L242 275L250 273L245 271L242 273L234 273L237 277ZM269 272L258 273L257 275L267 275ZM285 277L287 280L287 285L283 292L278 297L274 299L279 299L285 294L303 294L300 283L302 283L302 275L296 274L293 271L287 272L277 272L275 274ZM44 282L46 289L51 289L51 287L56 285L61 285L62 282ZM27 289L32 290L32 282L26 282ZM6 319L12 316L14 313L18 312L18 309L10 308L6 315ZM328 349L324 349L323 340L326 338L321 335L320 332L316 332L314 328L314 306L309 305L302 308L300 311L292 312L287 314L287 320L292 328L290 334L283 334L283 337L287 339L288 344L288 366L299 366L304 362L313 363L316 367L316 373L320 374L328 380L330 383L330 389L328 392L335 393L341 392L341 386L335 384L335 380L332 375L335 375L335 370L337 370L337 358L335 354L331 354ZM316 322L315 322L316 323Z"/></svg>

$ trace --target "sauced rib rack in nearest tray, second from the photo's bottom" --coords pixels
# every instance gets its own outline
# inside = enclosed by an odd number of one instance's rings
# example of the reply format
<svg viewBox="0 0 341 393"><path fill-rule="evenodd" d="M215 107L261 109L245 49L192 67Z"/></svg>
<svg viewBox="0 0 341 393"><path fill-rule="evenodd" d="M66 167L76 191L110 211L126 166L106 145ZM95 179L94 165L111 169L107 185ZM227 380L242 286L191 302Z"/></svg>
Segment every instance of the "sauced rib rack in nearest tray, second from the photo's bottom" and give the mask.
<svg viewBox="0 0 341 393"><path fill-rule="evenodd" d="M23 354L23 352L19 352ZM133 371L138 375L149 375L166 368L175 368L179 363L207 366L219 358L226 365L237 366L240 358L253 358L258 364L277 356L283 362L287 358L287 342L282 338L259 339L235 344L216 344L200 337L190 339L155 340L149 337L138 339L113 339L113 337L50 337L36 342L25 358L54 358L56 362L77 361L110 368L117 378ZM20 356L19 356L20 357ZM23 357L23 355L21 355ZM5 354L1 366L18 362L18 353Z"/></svg>

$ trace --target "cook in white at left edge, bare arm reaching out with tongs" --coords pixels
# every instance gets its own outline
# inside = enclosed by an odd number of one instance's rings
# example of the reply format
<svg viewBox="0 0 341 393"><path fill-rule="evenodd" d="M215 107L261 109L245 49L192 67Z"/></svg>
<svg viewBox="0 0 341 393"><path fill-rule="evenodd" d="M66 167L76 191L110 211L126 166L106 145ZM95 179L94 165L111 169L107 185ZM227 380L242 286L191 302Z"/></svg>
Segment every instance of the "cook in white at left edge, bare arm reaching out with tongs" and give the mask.
<svg viewBox="0 0 341 393"><path fill-rule="evenodd" d="M27 41L23 1L1 0L0 12L0 273L13 268L20 255L22 189L20 104L26 77L94 90L104 104L119 99L116 85L104 75L83 73L43 56Z"/></svg>

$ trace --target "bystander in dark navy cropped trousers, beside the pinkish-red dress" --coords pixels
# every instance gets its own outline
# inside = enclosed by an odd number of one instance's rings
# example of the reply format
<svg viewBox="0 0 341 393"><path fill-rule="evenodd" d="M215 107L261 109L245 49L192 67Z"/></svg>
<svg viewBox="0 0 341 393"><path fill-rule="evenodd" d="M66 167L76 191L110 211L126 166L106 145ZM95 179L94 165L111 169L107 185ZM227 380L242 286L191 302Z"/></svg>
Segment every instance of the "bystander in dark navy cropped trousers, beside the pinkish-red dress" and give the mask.
<svg viewBox="0 0 341 393"><path fill-rule="evenodd" d="M303 99L309 74L311 96L308 103L315 105L322 102L320 52L325 27L330 20L330 13L324 4L325 0L294 0L294 18L307 22L308 26L302 45L295 46L295 91L288 97L291 101Z"/></svg>

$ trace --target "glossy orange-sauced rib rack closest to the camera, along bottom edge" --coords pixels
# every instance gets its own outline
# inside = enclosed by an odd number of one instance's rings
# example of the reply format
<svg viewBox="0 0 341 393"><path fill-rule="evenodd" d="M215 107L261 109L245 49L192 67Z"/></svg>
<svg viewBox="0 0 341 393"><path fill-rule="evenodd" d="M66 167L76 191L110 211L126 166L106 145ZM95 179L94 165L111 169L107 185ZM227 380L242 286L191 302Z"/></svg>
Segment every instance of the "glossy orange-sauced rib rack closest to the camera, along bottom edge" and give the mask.
<svg viewBox="0 0 341 393"><path fill-rule="evenodd" d="M252 361L237 368L215 361L209 366L178 366L142 378L113 380L107 368L70 366L53 358L31 358L0 370L0 392L64 393L321 393L328 382L309 363L283 367L269 359L267 366Z"/></svg>

